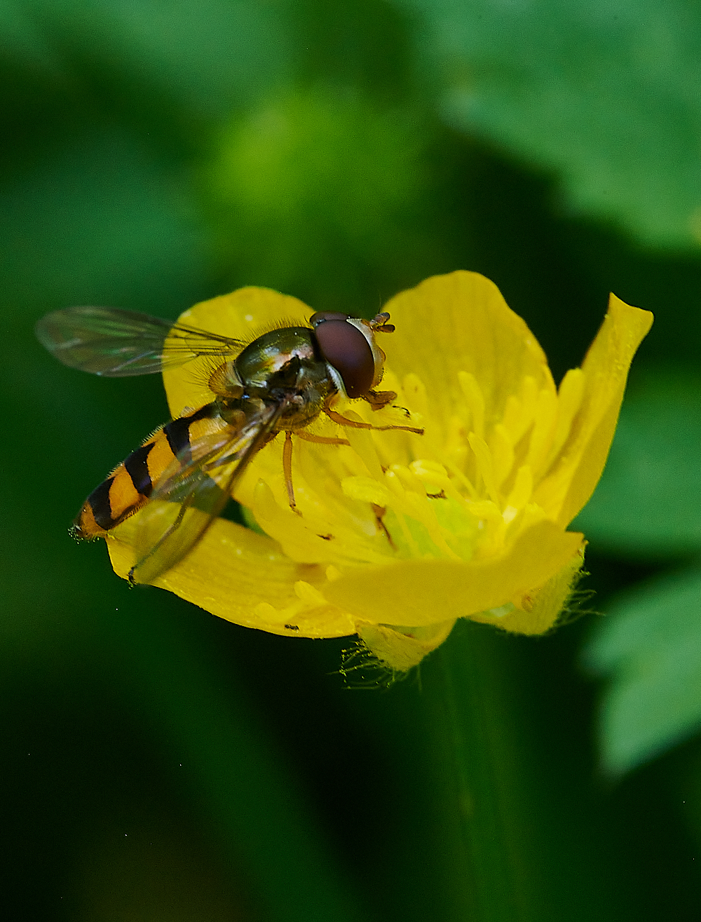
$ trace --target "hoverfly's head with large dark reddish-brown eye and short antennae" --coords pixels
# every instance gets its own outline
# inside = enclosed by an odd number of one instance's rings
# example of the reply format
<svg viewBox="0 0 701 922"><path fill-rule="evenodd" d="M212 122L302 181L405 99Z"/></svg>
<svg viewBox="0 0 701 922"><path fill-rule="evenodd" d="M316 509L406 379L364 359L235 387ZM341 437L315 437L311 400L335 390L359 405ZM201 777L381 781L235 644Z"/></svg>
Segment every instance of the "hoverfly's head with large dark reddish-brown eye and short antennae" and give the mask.
<svg viewBox="0 0 701 922"><path fill-rule="evenodd" d="M310 324L324 361L338 372L348 396L367 394L382 380L385 353L377 347L374 331L382 328L388 319L388 314L382 315L382 320L376 324L330 311L311 317Z"/></svg>

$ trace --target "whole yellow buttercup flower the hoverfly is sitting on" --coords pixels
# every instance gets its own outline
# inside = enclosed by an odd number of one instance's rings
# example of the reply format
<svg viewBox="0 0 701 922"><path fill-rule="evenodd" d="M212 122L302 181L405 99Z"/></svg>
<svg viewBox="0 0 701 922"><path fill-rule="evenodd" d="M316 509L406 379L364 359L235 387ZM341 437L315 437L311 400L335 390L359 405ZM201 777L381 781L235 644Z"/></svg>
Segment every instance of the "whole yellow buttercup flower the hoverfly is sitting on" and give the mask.
<svg viewBox="0 0 701 922"><path fill-rule="evenodd" d="M424 434L363 431L323 416L310 431L350 446L294 439L291 511L282 438L255 457L235 497L265 533L219 519L154 585L221 618L295 637L359 634L388 667L414 666L457 618L506 631L547 631L584 552L566 531L596 486L630 362L652 314L612 295L581 368L555 388L528 326L488 279L429 278L386 304L382 387L395 408L340 398L343 415L407 423ZM242 289L180 318L251 340L301 301ZM207 360L197 360L207 361ZM164 373L172 416L208 403L196 361ZM400 409L404 408L404 409ZM116 573L134 564L137 516L108 538Z"/></svg>

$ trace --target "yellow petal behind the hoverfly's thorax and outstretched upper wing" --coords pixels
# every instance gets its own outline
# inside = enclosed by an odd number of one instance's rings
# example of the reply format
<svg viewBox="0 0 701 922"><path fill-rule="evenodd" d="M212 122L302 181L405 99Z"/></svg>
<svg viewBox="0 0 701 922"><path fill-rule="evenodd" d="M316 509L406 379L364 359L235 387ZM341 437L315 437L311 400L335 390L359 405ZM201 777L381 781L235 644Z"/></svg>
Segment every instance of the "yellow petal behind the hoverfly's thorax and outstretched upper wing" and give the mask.
<svg viewBox="0 0 701 922"><path fill-rule="evenodd" d="M302 301L279 291L244 288L210 301L200 301L181 313L178 323L250 343L276 326L306 326L312 313ZM211 358L205 356L182 368L163 372L173 419L179 417L185 407L197 409L211 403L212 392L207 383L213 371Z"/></svg>

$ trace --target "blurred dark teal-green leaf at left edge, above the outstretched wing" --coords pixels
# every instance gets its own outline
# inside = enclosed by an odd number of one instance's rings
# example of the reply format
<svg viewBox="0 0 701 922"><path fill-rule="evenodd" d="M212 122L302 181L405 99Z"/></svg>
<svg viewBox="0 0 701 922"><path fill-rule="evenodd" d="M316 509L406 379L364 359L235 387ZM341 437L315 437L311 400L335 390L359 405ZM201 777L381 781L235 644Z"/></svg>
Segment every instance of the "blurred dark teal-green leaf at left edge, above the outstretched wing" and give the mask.
<svg viewBox="0 0 701 922"><path fill-rule="evenodd" d="M189 191L184 171L120 129L86 131L16 165L0 182L5 310L114 299L177 315L204 278Z"/></svg>

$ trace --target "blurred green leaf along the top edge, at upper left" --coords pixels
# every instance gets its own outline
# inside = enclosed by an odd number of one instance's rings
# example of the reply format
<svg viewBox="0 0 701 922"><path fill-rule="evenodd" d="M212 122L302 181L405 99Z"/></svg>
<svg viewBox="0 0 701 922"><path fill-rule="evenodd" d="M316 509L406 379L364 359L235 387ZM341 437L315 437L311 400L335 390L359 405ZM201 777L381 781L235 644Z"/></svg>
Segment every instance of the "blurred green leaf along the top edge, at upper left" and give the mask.
<svg viewBox="0 0 701 922"><path fill-rule="evenodd" d="M140 92L160 89L199 114L255 99L290 68L276 0L10 0L0 10L15 56L56 46L106 68ZM37 23L41 27L37 28ZM70 67L68 67L70 70Z"/></svg>

